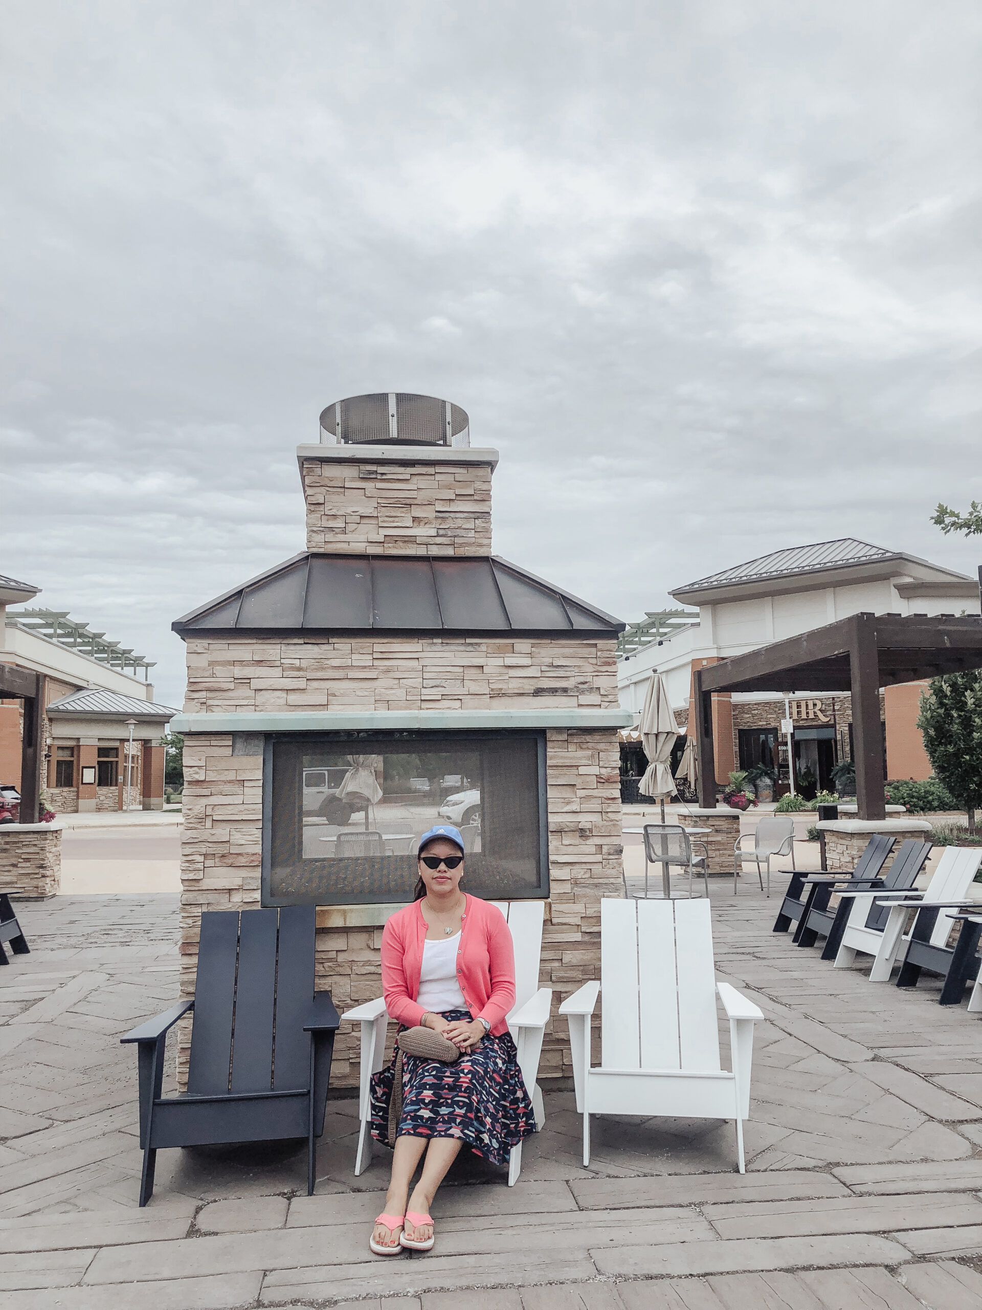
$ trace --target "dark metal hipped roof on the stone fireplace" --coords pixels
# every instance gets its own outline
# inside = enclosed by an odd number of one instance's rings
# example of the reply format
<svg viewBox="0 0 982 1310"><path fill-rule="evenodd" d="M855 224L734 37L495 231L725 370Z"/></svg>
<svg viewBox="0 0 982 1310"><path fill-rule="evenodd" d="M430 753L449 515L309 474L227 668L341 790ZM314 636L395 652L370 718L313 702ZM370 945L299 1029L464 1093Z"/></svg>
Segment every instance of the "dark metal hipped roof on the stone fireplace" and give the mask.
<svg viewBox="0 0 982 1310"><path fill-rule="evenodd" d="M172 627L182 637L285 630L615 638L625 625L495 555L304 553Z"/></svg>

